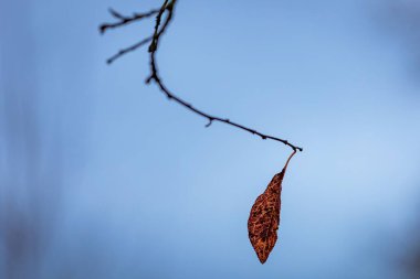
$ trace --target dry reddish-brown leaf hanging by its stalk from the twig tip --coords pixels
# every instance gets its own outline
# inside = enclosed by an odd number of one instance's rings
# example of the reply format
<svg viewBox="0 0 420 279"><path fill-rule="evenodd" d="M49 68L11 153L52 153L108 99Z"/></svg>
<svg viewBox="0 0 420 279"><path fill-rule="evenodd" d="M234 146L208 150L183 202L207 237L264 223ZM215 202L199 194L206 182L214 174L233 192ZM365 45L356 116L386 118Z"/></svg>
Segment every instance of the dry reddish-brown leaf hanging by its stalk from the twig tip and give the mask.
<svg viewBox="0 0 420 279"><path fill-rule="evenodd" d="M274 175L264 193L256 197L251 208L250 218L248 219L248 233L261 264L266 261L277 240L282 181L287 164L295 153L296 151L288 157L282 172Z"/></svg>

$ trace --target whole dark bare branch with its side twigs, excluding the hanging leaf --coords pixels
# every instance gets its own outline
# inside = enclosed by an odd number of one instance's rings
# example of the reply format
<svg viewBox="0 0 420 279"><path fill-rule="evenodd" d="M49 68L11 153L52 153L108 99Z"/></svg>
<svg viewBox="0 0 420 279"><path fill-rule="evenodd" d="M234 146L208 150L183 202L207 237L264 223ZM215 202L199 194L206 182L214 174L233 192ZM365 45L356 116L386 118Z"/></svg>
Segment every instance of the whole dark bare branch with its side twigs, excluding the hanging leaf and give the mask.
<svg viewBox="0 0 420 279"><path fill-rule="evenodd" d="M302 148L292 144L287 140L280 139L276 137L272 137L269 135L264 135L264 133L259 132L254 129L248 128L243 125L233 122L227 118L221 118L218 116L209 115L209 114L193 107L191 104L187 103L186 100L181 99L180 97L177 97L175 94L172 94L166 87L166 85L164 84L164 82L159 75L159 72L158 72L158 66L157 66L157 62L156 62L156 52L158 50L161 35L166 32L169 23L171 22L171 20L174 18L174 8L175 8L176 3L177 3L177 0L170 0L170 1L165 0L162 6L160 7L160 9L151 10L151 11L146 12L146 13L138 13L138 14L136 13L133 17L124 17L114 10L109 10L112 15L114 18L116 18L118 21L115 23L102 24L99 26L101 33L104 33L108 29L124 26L124 25L127 25L129 23L133 23L134 21L138 21L141 19L148 18L148 17L151 17L154 14L156 14L156 24L155 24L154 34L151 36L148 36L145 40L143 40L143 41L129 46L129 47L120 50L118 53L116 53L111 58L108 58L107 63L111 64L115 60L119 58L120 56L123 56L129 52L133 52L133 51L137 50L138 47L145 45L146 43L150 42L148 51L150 53L150 72L151 73L150 73L150 76L146 79L146 83L149 84L150 82L155 82L157 84L157 86L159 87L160 92L162 92L168 97L169 100L175 100L177 104L183 106L185 108L189 109L190 111L192 111L192 112L195 112L201 117L207 118L209 120L209 122L206 125L206 127L210 127L211 124L214 121L223 122L223 124L227 124L229 126L237 127L241 130L251 132L252 135L259 136L263 140L271 139L274 141L280 141L280 142L288 146L290 148L292 148L294 151L296 151L296 150L302 151L303 150ZM164 17L164 15L166 15L166 17Z"/></svg>

